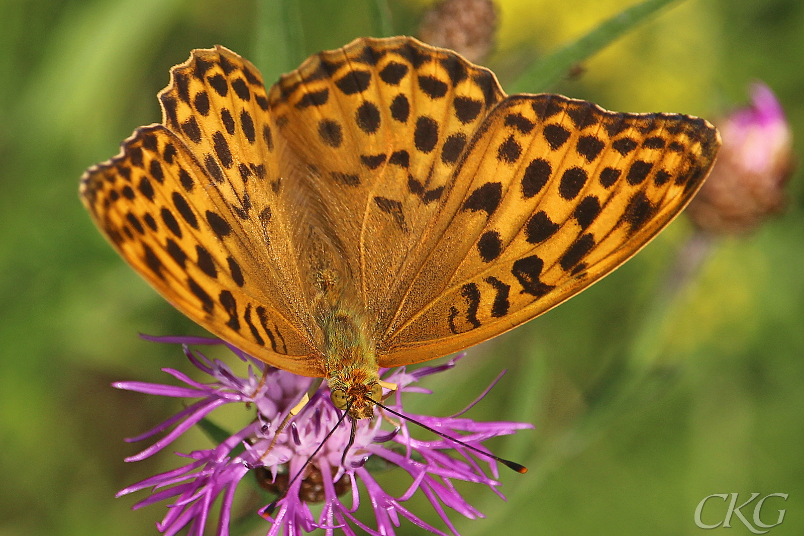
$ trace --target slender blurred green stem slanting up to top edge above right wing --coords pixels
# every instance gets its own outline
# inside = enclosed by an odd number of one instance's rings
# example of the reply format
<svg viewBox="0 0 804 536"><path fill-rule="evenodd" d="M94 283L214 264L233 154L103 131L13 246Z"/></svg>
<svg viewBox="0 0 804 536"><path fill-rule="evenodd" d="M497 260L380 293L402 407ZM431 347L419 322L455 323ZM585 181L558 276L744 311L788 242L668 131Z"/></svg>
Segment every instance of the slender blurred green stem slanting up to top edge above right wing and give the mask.
<svg viewBox="0 0 804 536"><path fill-rule="evenodd" d="M626 32L638 27L658 10L679 0L645 0L605 20L598 27L551 55L537 60L511 84L511 93L539 93L561 80L577 64L600 52Z"/></svg>

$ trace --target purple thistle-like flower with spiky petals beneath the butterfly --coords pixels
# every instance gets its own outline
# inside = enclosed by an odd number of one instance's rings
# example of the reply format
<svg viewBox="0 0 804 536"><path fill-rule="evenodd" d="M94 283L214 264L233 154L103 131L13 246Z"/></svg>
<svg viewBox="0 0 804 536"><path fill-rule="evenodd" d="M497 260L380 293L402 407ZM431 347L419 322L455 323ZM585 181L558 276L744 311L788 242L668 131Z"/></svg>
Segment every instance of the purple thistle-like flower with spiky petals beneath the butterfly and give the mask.
<svg viewBox="0 0 804 536"><path fill-rule="evenodd" d="M217 447L178 454L187 458L183 467L152 476L133 484L117 493L117 496L151 488L151 495L134 505L134 509L158 501L170 500L168 513L158 530L162 533L177 534L189 526L188 536L202 536L207 520L218 497L222 498L217 531L219 536L228 536L229 520L232 514L232 501L235 489L248 472L256 472L256 478L265 489L276 493L275 509L263 507L258 513L271 524L267 534L287 534L296 536L315 529L325 529L332 534L335 529L344 534L356 534L355 527L368 534L395 534L394 527L400 525L400 517L429 530L435 534L445 534L430 526L403 505L416 491L425 493L433 508L453 534L457 534L449 521L443 506L456 510L466 517L482 517L482 513L467 503L453 486L453 480L466 480L485 484L498 492L497 464L486 456L463 447L449 439L420 441L412 438L408 423L404 419L396 422L392 415L380 414L377 409L373 419L361 419L356 424L355 440L344 456L343 450L350 439L351 422L346 419L337 429L336 423L344 420L343 414L330 402L326 382L315 390L310 402L293 418L289 425L280 431L277 428L310 389L313 379L274 369L261 361L242 353L228 345L232 352L248 363L248 377L238 377L221 361L212 361L201 353L194 353L187 344L224 344L217 339L200 337L146 337L159 342L183 344L184 353L193 365L209 374L213 381L199 383L175 369L163 369L166 373L182 381L185 386L168 386L142 381L119 381L113 384L118 389L133 390L146 394L178 398L199 398L198 402L187 406L153 430L127 441L140 441L160 432L170 430L161 439L126 461L143 460L162 450L184 431L199 423L212 410L224 404L240 402L256 407L256 418L248 426L225 439ZM502 374L492 382L472 404L458 414L449 417L410 414L402 406L402 393L426 393L416 381L432 373L451 369L461 356L455 357L445 365L423 367L407 372L404 367L394 370L381 370L384 380L396 383L399 390L392 394L384 405L389 410L415 419L441 434L460 439L462 442L487 452L482 443L498 435L514 434L518 430L532 428L527 423L478 423L470 418L462 418L466 410L479 402ZM265 373L265 381L260 381ZM386 391L388 394L388 391ZM381 429L383 423L392 423L393 430ZM306 460L322 444L325 436L332 432L326 443L313 456L311 463L304 468ZM457 451L459 457L449 456L447 451ZM412 484L400 497L393 497L380 487L367 469L367 461L383 460L390 467L404 469L412 477ZM343 459L343 464L342 464ZM483 466L487 464L487 468ZM302 478L293 480L304 468ZM399 469L396 469L399 470ZM368 500L375 514L372 528L355 517L360 503L357 480L363 482ZM288 488L288 484L290 487ZM351 500L343 504L339 497L351 491ZM504 498L504 497L503 497ZM310 511L309 504L323 502L318 518ZM272 505L272 506L273 506Z"/></svg>

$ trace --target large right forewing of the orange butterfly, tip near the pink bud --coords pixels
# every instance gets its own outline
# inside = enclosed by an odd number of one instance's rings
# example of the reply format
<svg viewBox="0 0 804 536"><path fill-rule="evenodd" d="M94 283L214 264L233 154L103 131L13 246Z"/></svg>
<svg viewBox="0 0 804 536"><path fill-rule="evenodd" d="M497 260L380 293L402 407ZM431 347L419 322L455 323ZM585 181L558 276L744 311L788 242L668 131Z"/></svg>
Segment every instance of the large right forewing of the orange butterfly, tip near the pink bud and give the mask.
<svg viewBox="0 0 804 536"><path fill-rule="evenodd" d="M508 97L458 163L433 225L437 245L379 348L380 366L477 344L589 287L691 200L719 143L714 127L689 116Z"/></svg>

